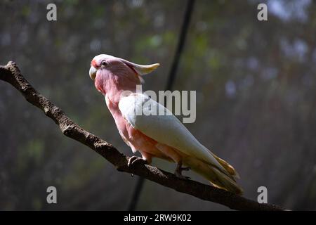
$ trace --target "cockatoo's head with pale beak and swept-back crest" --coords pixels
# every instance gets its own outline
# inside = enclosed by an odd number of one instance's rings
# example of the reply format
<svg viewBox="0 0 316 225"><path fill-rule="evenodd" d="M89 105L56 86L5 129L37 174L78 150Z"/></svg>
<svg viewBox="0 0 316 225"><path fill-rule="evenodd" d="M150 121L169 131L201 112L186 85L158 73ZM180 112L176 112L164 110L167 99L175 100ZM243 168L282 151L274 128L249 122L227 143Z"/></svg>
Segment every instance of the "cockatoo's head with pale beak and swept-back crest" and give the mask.
<svg viewBox="0 0 316 225"><path fill-rule="evenodd" d="M123 81L125 78L129 80L136 79L141 82L143 79L140 76L152 72L158 66L159 63L138 65L122 58L102 54L95 56L91 61L89 75L93 80L101 76L105 79L105 77L109 77L108 75L114 75L119 79L123 79Z"/></svg>

